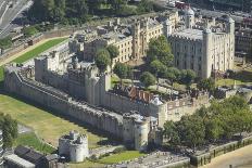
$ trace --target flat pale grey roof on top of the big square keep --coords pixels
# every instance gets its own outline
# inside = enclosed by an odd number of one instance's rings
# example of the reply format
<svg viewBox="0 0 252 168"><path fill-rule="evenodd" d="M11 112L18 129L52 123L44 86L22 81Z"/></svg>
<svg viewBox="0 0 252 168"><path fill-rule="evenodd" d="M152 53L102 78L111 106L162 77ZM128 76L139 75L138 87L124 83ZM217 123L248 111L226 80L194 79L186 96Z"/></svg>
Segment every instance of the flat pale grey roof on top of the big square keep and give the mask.
<svg viewBox="0 0 252 168"><path fill-rule="evenodd" d="M174 33L172 35L172 37L174 37L174 36L180 36L180 37L185 37L185 38L189 38L189 39L202 40L203 39L203 31L200 29L187 28L187 29Z"/></svg>

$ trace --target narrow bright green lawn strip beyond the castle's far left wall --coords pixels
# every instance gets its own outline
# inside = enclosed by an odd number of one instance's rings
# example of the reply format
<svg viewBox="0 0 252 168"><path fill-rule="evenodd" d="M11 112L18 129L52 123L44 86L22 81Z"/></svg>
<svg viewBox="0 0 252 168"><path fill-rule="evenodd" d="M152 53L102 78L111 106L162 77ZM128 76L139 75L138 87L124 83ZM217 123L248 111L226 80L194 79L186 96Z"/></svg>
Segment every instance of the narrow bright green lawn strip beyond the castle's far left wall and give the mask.
<svg viewBox="0 0 252 168"><path fill-rule="evenodd" d="M49 40L47 42L45 42L43 44L35 48L34 50L30 50L28 52L26 52L25 54L18 56L17 59L13 60L12 62L15 63L24 63L35 56L38 56L40 53L49 50L50 48L63 42L66 38L59 38L59 39L52 39ZM0 66L0 81L3 80L3 67Z"/></svg>

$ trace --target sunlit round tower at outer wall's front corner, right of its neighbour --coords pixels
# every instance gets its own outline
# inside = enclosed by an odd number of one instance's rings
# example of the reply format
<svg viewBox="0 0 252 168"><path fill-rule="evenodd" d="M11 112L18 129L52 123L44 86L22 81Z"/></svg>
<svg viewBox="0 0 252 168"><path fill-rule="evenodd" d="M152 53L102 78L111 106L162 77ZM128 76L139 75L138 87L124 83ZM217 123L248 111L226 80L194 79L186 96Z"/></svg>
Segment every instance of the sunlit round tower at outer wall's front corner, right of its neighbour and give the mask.
<svg viewBox="0 0 252 168"><path fill-rule="evenodd" d="M148 121L143 119L136 119L135 129L135 150L146 151L148 147L148 133L149 133Z"/></svg>

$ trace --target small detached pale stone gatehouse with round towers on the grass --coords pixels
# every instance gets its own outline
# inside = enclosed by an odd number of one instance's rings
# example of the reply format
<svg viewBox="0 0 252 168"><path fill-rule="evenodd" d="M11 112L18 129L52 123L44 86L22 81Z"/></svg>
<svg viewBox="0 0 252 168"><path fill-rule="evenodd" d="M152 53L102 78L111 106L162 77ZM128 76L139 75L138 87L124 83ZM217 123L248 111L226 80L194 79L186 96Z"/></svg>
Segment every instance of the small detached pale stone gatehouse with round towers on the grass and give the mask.
<svg viewBox="0 0 252 168"><path fill-rule="evenodd" d="M59 155L67 156L71 161L84 161L85 158L89 157L87 135L71 131L70 134L61 137L59 139Z"/></svg>

